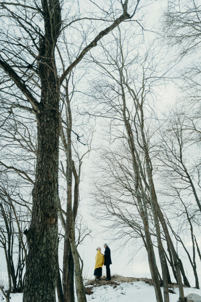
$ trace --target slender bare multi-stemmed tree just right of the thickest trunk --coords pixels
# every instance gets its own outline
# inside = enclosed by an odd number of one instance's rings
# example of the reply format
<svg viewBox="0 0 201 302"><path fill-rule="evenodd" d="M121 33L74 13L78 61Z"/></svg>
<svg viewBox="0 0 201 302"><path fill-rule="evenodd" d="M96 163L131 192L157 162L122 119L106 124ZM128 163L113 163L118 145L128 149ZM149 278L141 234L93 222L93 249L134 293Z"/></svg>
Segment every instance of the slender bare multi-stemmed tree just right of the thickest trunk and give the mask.
<svg viewBox="0 0 201 302"><path fill-rule="evenodd" d="M79 204L79 184L80 184L80 172L81 165L84 156L86 156L91 151L91 141L90 135L87 134L87 139L83 138L83 142L80 142L80 137L77 133L72 130L72 111L71 111L71 100L74 96L74 73L71 72L69 74L68 79L66 79L65 85L65 97L63 100L65 114L61 116L61 130L60 137L63 146L63 153L65 156L66 164L63 165L61 162L61 173L64 176L67 182L67 208L66 208L66 220L64 226L64 256L63 256L63 294L64 301L74 301L74 267L76 271L75 281L76 281L76 292L78 295L78 300L83 301L86 299L84 285L82 280L82 269L79 266L79 253L77 252L77 246L75 242L75 224L78 211ZM69 89L69 82L72 82L72 91ZM72 141L72 133L74 132L76 136L76 142L86 146L85 152L80 156L78 149L76 148L76 143L74 145L74 140ZM89 132L90 133L90 132ZM93 133L92 133L93 136ZM92 139L92 137L91 137ZM88 144L89 143L89 144ZM73 149L73 150L72 150ZM77 160L77 168L76 162L73 160L73 155L75 155L75 159ZM66 165L66 167L65 167ZM64 169L65 167L65 169ZM73 185L73 176L74 176L74 196L73 196L73 208L72 208L72 185ZM72 212L73 211L73 220ZM61 222L64 224L63 212L59 212L59 217ZM72 233L74 235L72 235ZM72 237L73 236L73 237ZM73 239L72 239L73 238ZM79 242L79 241L78 241ZM73 246L73 248L72 248ZM79 296L79 293L83 292ZM62 293L61 293L62 295Z"/></svg>

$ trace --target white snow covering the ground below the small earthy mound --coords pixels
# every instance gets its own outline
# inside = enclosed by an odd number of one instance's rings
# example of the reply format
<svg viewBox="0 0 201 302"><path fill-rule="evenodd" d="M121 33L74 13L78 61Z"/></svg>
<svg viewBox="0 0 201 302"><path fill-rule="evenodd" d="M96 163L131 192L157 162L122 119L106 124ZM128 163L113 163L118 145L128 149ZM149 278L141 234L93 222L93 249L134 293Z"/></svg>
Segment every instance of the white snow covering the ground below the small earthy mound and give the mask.
<svg viewBox="0 0 201 302"><path fill-rule="evenodd" d="M93 288L93 294L87 297L87 302L155 302L154 287L143 281L132 283L118 282L116 288L110 285L102 285ZM96 283L98 285L98 283ZM162 289L162 288L161 288ZM174 289L176 294L169 294L170 302L177 302L179 300L178 288ZM195 293L201 296L201 290L195 288L184 288L185 297ZM22 302L23 294L11 294L11 302ZM76 296L76 295L75 295ZM0 300L1 301L1 300ZM58 301L56 295L56 301ZM75 299L77 302L77 299Z"/></svg>

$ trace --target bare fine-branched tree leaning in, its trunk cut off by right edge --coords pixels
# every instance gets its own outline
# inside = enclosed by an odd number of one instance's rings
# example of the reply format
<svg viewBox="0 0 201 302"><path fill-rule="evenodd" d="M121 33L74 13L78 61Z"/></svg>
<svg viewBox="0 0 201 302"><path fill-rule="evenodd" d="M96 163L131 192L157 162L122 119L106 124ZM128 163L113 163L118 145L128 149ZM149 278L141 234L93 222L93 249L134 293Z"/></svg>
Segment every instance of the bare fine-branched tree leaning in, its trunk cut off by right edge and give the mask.
<svg viewBox="0 0 201 302"><path fill-rule="evenodd" d="M184 111L173 111L168 118L166 129L161 132L161 153L159 159L164 165L164 172L174 177L177 188L190 190L195 198L199 211L201 205L197 190L199 188L199 166L196 161L190 163L193 128L187 125ZM164 128L163 128L164 129ZM189 150L189 151L187 151ZM189 165L190 164L190 165Z"/></svg>

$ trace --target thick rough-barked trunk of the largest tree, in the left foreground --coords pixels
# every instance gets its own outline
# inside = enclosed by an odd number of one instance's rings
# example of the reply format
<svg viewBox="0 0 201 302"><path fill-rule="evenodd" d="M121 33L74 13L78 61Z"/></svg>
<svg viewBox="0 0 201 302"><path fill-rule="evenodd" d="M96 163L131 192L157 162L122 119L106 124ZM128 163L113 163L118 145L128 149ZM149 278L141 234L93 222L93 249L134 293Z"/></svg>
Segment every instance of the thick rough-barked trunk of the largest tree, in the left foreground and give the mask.
<svg viewBox="0 0 201 302"><path fill-rule="evenodd" d="M61 27L58 0L42 0L45 36L39 44L41 102L36 113L38 149L33 188L31 225L25 232L29 244L24 302L53 302L58 277L58 143L59 81L55 44Z"/></svg>

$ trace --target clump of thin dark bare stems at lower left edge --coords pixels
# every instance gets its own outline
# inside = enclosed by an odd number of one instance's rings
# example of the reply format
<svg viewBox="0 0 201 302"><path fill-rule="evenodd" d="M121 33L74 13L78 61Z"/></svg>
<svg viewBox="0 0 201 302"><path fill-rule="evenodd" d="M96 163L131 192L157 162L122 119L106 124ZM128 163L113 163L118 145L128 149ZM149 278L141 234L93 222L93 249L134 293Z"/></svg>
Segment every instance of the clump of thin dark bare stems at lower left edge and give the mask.
<svg viewBox="0 0 201 302"><path fill-rule="evenodd" d="M3 178L3 179L2 179ZM28 227L29 214L18 204L16 208L15 192L10 186L7 175L1 175L0 185L0 242L5 252L8 272L8 291L1 287L6 301L10 301L10 293L24 291L24 278L27 265L27 240L23 231ZM28 211L28 210L27 210ZM14 255L17 254L17 262L14 264Z"/></svg>

